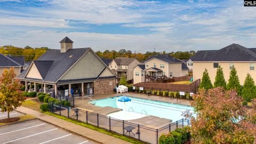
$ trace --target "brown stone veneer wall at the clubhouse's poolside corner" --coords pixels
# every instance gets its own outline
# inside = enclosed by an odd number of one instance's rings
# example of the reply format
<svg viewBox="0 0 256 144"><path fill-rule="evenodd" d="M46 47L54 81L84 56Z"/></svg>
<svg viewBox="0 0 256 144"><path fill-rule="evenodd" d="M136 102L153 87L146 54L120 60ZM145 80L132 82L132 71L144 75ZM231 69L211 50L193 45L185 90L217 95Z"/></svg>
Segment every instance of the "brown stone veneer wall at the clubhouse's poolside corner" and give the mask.
<svg viewBox="0 0 256 144"><path fill-rule="evenodd" d="M116 78L98 79L94 82L94 94L112 93L116 87Z"/></svg>

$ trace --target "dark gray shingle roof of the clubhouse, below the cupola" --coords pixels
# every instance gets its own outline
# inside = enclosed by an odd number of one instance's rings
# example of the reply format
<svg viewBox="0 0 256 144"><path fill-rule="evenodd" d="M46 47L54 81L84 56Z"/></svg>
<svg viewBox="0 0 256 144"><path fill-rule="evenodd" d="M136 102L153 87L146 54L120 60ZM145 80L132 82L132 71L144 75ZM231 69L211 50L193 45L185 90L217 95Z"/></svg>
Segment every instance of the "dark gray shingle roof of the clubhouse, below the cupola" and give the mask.
<svg viewBox="0 0 256 144"><path fill-rule="evenodd" d="M45 75L45 73L47 72L47 74L44 77L44 81L55 83L89 49L90 48L69 49L65 53L61 53L60 50L47 51L41 57L39 57L38 60L36 60L36 62L34 62L37 63L36 65L42 64L42 66L38 68L38 70L41 69L41 72L39 70L39 73ZM46 70L42 70L44 68L46 68ZM27 70L28 69L22 71L18 78L23 78L27 73Z"/></svg>

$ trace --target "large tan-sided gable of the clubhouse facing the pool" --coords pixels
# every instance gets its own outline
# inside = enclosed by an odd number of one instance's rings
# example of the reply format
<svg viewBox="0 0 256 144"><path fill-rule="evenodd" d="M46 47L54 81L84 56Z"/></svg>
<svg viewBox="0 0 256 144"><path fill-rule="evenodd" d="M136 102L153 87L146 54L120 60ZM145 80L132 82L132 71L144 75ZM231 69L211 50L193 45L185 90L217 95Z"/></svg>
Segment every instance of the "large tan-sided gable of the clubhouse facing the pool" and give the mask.
<svg viewBox="0 0 256 144"><path fill-rule="evenodd" d="M103 65L92 51L89 51L61 78L61 80L97 77L104 68L105 65Z"/></svg>

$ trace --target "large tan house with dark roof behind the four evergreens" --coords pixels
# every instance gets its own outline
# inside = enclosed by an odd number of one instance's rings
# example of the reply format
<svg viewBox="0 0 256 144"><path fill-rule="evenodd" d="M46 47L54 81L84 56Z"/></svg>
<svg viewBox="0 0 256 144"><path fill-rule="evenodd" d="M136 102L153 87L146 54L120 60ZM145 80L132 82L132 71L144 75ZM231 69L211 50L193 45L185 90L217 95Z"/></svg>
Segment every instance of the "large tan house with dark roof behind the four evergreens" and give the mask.
<svg viewBox="0 0 256 144"><path fill-rule="evenodd" d="M214 83L219 66L222 67L226 81L229 79L230 69L235 67L240 84L244 84L247 74L256 81L256 49L247 49L238 44L231 44L220 50L198 51L193 61L194 80L202 78L205 69L208 70L211 82Z"/></svg>

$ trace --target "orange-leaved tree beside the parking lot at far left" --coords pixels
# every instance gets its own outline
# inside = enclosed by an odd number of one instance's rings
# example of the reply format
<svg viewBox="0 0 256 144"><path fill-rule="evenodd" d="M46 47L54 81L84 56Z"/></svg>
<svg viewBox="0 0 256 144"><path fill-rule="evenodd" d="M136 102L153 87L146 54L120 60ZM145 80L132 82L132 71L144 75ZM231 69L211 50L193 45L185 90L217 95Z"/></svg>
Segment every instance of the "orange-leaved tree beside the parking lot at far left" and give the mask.
<svg viewBox="0 0 256 144"><path fill-rule="evenodd" d="M4 69L2 77L0 77L0 108L2 112L7 111L7 117L10 118L10 112L21 106L25 101L25 96L20 90L21 84L15 78L14 69L10 71Z"/></svg>

